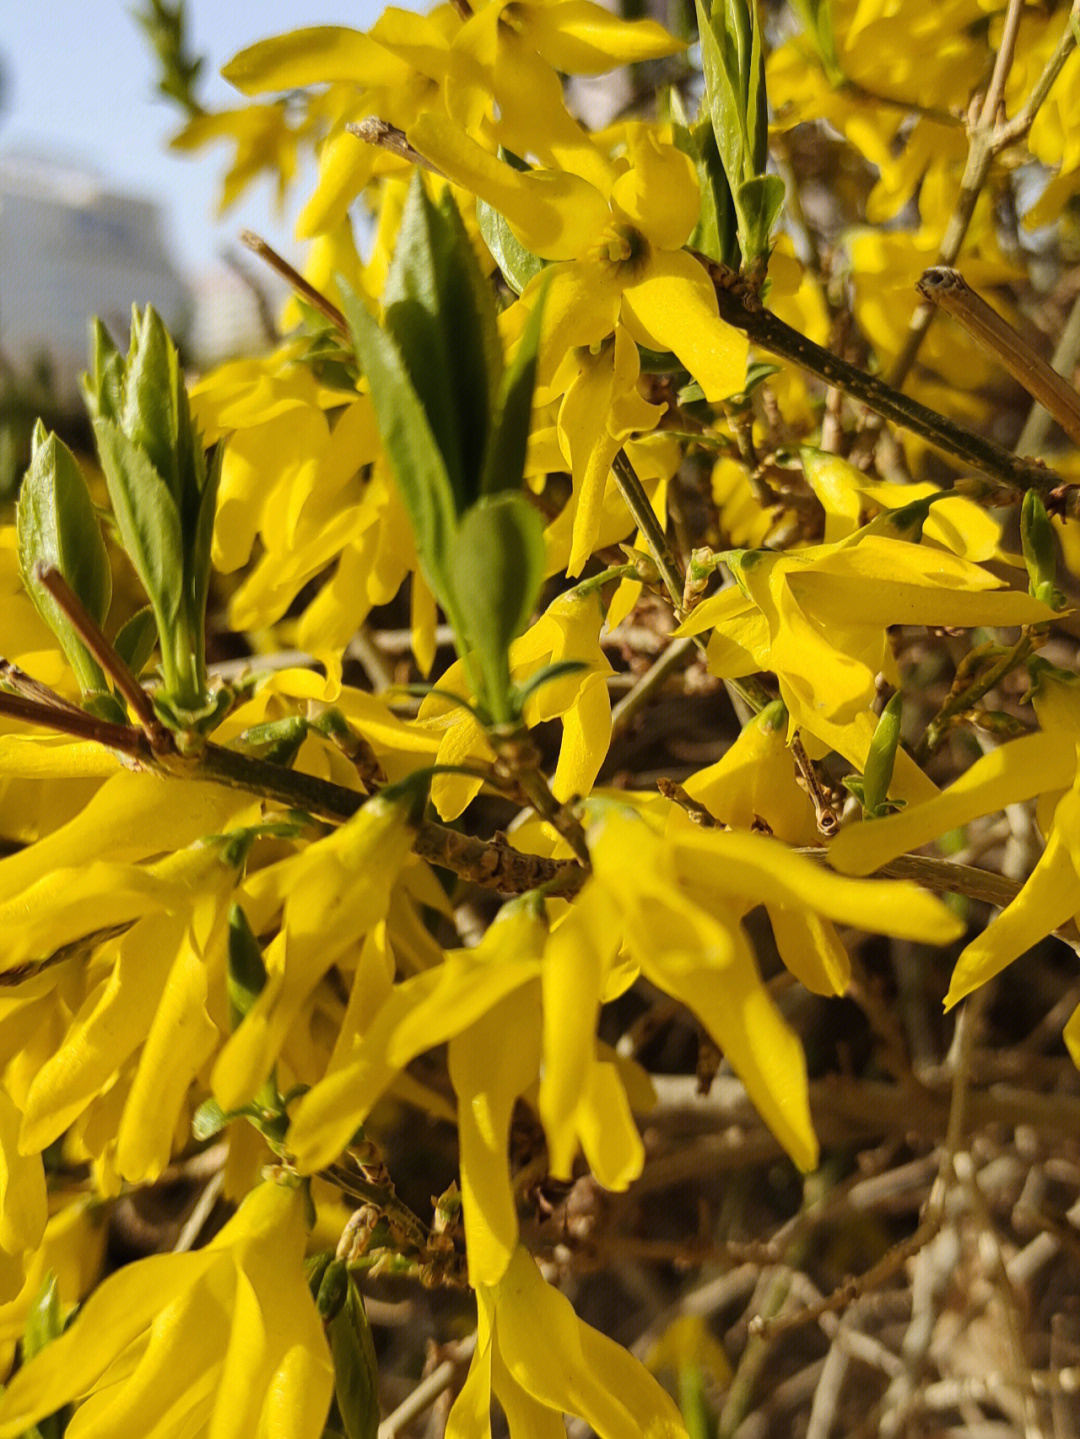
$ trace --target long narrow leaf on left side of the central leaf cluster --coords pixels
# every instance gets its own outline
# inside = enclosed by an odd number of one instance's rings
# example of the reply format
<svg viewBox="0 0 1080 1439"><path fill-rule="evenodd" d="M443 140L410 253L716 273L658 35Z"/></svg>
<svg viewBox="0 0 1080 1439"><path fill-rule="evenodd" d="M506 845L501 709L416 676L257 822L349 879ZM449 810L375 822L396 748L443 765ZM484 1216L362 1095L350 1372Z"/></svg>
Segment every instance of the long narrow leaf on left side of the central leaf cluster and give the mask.
<svg viewBox="0 0 1080 1439"><path fill-rule="evenodd" d="M371 387L383 445L413 524L424 577L441 600L456 530L454 496L446 463L397 344L380 330L364 301L342 276L338 276L338 285L357 357Z"/></svg>

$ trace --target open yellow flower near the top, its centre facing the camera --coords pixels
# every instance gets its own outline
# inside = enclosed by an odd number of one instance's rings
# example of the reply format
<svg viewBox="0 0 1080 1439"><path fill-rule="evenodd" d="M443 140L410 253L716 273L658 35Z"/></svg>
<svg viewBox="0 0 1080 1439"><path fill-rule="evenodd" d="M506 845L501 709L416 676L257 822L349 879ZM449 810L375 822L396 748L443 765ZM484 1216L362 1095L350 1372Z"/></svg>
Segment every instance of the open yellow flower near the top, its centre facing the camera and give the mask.
<svg viewBox="0 0 1080 1439"><path fill-rule="evenodd" d="M628 125L618 163L590 147L598 164L588 177L577 154L565 161L571 168L513 170L433 111L408 140L499 210L526 249L559 262L522 294L532 307L546 285L541 384L569 350L600 344L621 321L639 344L674 351L706 399L743 387L746 340L719 318L708 272L682 248L697 220L697 176L653 128Z"/></svg>

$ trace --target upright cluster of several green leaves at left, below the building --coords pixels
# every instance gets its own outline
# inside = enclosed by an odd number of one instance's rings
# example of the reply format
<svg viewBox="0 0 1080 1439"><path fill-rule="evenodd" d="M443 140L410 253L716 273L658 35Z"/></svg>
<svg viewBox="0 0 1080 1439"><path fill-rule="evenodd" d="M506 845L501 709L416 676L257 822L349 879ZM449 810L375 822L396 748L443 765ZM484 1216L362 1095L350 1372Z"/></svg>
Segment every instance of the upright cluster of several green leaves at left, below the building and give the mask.
<svg viewBox="0 0 1080 1439"><path fill-rule="evenodd" d="M204 626L220 450L207 468L177 348L150 305L132 312L127 357L93 322L83 393L116 528L154 612L155 698L171 724L198 728L213 711Z"/></svg>

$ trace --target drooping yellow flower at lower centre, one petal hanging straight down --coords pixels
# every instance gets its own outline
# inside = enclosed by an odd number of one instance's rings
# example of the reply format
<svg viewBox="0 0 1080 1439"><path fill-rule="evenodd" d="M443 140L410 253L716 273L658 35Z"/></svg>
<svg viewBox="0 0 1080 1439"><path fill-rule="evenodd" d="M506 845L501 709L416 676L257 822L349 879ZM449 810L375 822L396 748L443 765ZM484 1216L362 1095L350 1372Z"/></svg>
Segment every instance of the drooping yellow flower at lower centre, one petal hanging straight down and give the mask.
<svg viewBox="0 0 1080 1439"><path fill-rule="evenodd" d="M296 1105L286 1138L301 1170L331 1163L406 1065L449 1042L473 1285L498 1282L518 1242L506 1156L511 1117L539 1076L541 1027L559 1023L541 999L542 973L552 963L546 940L542 909L526 896L503 907L475 950L450 951L441 964L384 991L381 1006L351 1002L349 1016L362 1027L342 1027L325 1079ZM636 1066L597 1052L594 1033L581 1043L575 1138L598 1181L621 1190L640 1174L644 1157L624 1079L636 1098L641 1084Z"/></svg>

